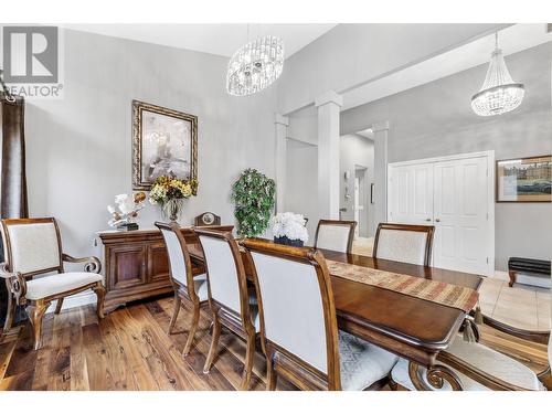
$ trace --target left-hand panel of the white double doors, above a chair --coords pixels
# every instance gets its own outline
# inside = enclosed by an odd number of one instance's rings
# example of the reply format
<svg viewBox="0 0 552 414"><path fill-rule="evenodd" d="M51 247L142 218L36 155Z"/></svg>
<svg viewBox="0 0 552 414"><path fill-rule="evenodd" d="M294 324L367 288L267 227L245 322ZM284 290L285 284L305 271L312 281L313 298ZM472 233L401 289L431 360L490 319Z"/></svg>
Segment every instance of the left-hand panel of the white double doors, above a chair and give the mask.
<svg viewBox="0 0 552 414"><path fill-rule="evenodd" d="M392 167L389 185L389 221L433 223L433 163Z"/></svg>

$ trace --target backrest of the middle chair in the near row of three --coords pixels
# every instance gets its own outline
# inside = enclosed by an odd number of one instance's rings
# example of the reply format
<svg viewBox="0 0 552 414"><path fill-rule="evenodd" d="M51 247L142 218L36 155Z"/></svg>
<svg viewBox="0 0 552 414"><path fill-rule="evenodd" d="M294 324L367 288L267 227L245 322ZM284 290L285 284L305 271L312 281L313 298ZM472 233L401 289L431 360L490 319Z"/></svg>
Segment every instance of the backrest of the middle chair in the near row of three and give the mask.
<svg viewBox="0 0 552 414"><path fill-rule="evenodd" d="M247 279L236 241L231 232L195 229L209 280L209 298L251 323Z"/></svg>

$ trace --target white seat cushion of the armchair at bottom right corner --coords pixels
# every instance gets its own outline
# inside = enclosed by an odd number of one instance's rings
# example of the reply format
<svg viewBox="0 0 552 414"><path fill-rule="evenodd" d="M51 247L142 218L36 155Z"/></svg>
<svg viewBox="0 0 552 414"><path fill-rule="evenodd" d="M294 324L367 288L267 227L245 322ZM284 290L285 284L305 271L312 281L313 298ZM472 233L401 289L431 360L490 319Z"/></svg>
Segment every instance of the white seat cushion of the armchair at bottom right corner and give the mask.
<svg viewBox="0 0 552 414"><path fill-rule="evenodd" d="M535 373L529 368L484 344L477 342L466 342L460 336L458 336L447 351L458 357L463 361L466 361L470 365L474 365L479 370L510 384L534 391L544 390ZM423 368L422 370L425 373L425 368ZM477 381L464 375L456 370L453 371L460 379L464 390L489 391L488 388L484 386ZM391 376L397 384L401 384L408 390L415 389L408 375L407 360L401 359L395 368L393 368ZM424 375L422 375L422 378L424 378ZM445 381L445 385L442 390L450 391L450 385Z"/></svg>

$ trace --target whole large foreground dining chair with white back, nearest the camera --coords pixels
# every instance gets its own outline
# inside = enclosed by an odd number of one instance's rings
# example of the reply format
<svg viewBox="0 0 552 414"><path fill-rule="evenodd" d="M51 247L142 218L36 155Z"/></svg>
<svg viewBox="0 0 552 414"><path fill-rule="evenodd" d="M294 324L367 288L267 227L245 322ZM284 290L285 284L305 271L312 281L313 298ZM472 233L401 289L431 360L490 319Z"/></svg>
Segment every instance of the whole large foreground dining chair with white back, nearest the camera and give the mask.
<svg viewBox="0 0 552 414"><path fill-rule="evenodd" d="M245 240L254 264L267 390L277 375L301 390L381 388L397 357L338 330L326 261L320 251Z"/></svg>

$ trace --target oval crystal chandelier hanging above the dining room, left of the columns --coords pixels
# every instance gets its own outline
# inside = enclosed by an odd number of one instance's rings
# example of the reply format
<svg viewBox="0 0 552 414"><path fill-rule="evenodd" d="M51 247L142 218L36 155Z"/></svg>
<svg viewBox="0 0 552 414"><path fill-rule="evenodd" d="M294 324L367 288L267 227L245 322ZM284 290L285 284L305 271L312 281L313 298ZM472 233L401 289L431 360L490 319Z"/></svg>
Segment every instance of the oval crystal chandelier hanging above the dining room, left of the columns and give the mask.
<svg viewBox="0 0 552 414"><path fill-rule="evenodd" d="M244 96L263 91L278 78L284 68L284 42L264 36L237 50L229 62L226 91Z"/></svg>

